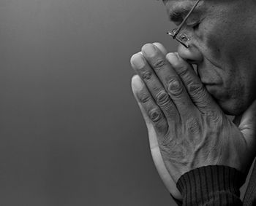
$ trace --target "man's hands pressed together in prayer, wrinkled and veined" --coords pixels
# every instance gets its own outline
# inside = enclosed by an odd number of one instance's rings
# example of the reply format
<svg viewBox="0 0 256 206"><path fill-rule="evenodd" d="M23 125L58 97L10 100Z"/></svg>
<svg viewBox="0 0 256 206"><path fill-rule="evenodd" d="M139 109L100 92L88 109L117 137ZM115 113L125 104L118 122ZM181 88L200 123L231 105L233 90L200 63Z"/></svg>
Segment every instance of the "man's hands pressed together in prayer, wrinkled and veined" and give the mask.
<svg viewBox="0 0 256 206"><path fill-rule="evenodd" d="M225 116L192 66L162 44L133 55L132 91L148 128L151 154L176 199L178 178L197 167L226 165L247 173L255 157L256 103L238 125Z"/></svg>

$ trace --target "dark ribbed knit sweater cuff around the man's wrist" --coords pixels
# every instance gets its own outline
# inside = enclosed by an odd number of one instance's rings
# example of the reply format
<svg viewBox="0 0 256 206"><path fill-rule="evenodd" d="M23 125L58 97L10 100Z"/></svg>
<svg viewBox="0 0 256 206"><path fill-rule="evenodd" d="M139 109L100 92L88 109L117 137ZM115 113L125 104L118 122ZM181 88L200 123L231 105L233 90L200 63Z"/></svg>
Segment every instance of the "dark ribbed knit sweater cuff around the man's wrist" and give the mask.
<svg viewBox="0 0 256 206"><path fill-rule="evenodd" d="M185 173L178 179L184 205L219 205L240 202L240 187L246 176L238 170L221 165L200 167Z"/></svg>

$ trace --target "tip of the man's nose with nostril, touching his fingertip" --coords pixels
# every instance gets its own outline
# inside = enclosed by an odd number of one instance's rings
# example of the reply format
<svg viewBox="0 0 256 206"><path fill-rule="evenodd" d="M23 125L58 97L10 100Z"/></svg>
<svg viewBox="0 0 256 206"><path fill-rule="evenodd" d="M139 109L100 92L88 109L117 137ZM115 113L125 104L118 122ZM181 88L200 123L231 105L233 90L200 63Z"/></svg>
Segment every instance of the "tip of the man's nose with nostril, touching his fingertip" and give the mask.
<svg viewBox="0 0 256 206"><path fill-rule="evenodd" d="M197 64L203 61L202 53L194 45L189 45L188 48L182 44L178 45L178 55L191 64Z"/></svg>

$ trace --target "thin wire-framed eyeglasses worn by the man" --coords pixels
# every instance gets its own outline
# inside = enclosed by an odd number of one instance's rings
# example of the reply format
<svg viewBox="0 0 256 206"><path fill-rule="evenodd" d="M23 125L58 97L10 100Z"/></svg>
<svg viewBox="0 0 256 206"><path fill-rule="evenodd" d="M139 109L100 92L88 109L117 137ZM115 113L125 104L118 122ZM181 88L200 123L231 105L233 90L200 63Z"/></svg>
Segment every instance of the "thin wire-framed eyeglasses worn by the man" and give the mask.
<svg viewBox="0 0 256 206"><path fill-rule="evenodd" d="M189 48L189 44L187 43L187 41L189 41L189 37L187 37L184 33L181 33L178 35L178 33L181 31L181 28L183 27L184 23L186 23L187 19L189 18L189 16L191 15L191 13L194 11L195 7L197 7L197 4L199 3L200 0L197 0L195 2L195 5L192 7L192 9L190 9L189 13L187 14L187 16L184 18L184 20L182 21L181 25L178 26L178 28L173 29L173 31L168 31L167 34L172 36L173 39L176 39L176 41L178 41L179 43L181 43L182 45L184 45L184 47Z"/></svg>

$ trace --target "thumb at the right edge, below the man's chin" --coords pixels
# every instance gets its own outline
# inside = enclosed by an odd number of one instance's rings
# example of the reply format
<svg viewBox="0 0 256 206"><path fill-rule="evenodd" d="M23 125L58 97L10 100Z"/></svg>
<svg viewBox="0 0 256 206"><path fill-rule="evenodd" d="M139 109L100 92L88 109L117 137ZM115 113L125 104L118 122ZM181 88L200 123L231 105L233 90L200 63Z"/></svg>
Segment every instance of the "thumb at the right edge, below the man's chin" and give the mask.
<svg viewBox="0 0 256 206"><path fill-rule="evenodd" d="M256 143L256 100L242 114L238 129L243 133L249 146L255 146Z"/></svg>

